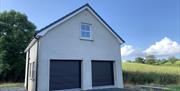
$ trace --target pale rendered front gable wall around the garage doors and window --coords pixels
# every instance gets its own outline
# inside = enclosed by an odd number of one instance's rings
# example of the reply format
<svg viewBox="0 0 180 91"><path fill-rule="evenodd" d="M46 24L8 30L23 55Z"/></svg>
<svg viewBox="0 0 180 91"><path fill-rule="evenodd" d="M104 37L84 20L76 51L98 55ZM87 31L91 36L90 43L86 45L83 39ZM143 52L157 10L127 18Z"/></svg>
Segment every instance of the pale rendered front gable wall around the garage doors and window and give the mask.
<svg viewBox="0 0 180 91"><path fill-rule="evenodd" d="M80 39L81 23L92 24L92 39ZM50 59L82 61L82 89L91 89L91 60L114 60L115 87L123 87L118 40L88 11L84 10L50 30L40 39L38 91L49 90Z"/></svg>

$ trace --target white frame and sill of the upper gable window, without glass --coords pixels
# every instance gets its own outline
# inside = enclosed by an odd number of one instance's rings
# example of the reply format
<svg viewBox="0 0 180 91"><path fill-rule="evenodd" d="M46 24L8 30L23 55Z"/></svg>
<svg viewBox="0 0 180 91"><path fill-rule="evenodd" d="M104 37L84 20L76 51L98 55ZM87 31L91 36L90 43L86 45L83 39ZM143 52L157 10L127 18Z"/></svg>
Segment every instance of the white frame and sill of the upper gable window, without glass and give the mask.
<svg viewBox="0 0 180 91"><path fill-rule="evenodd" d="M82 36L82 32L83 32L83 30L82 30L82 25L83 24L85 24L85 25L89 25L89 33L90 33L90 36L89 37L83 37ZM92 40L92 24L90 24L90 23L84 23L84 22L81 22L80 23L80 39L84 39L84 40ZM87 32L87 31L84 31L84 32Z"/></svg>

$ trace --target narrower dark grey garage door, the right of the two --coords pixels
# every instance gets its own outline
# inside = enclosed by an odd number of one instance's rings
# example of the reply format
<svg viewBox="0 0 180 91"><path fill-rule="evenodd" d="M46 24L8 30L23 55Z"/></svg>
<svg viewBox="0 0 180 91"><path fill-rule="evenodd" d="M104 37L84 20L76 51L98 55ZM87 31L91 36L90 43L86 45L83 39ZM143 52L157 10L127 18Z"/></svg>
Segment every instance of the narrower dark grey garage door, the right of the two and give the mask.
<svg viewBox="0 0 180 91"><path fill-rule="evenodd" d="M114 85L113 61L92 61L92 86Z"/></svg>

